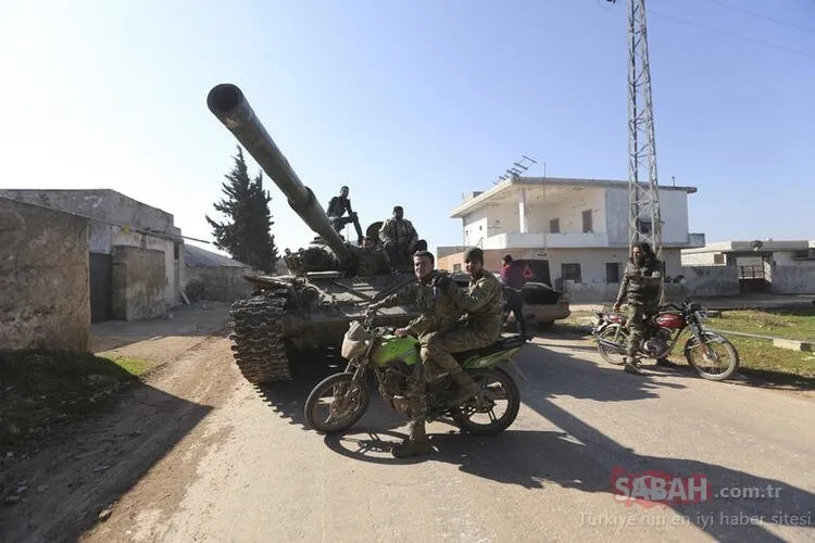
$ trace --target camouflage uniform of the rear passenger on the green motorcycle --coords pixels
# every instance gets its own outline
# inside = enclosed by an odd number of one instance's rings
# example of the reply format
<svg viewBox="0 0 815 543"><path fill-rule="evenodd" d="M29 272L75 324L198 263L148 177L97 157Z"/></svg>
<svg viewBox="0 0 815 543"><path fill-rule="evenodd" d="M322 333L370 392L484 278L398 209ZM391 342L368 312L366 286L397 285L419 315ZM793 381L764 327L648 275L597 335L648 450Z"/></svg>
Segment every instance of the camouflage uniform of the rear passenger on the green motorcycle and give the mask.
<svg viewBox="0 0 815 543"><path fill-rule="evenodd" d="M471 278L466 291L451 281L446 292L460 308L467 312L466 323L451 330L428 334L422 346L422 359L432 359L455 377L462 369L450 353L491 345L501 336L503 294L501 283L489 272Z"/></svg>

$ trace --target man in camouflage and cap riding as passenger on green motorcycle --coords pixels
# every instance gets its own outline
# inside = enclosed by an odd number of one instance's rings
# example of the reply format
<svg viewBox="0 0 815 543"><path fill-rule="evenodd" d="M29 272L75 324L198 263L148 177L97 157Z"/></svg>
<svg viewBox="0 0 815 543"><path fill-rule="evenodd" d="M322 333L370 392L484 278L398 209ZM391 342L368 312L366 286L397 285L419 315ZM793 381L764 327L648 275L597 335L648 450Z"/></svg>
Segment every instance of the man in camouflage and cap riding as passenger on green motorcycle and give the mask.
<svg viewBox="0 0 815 543"><path fill-rule="evenodd" d="M428 334L422 346L422 359L432 359L450 372L460 390L450 399L456 405L478 392L478 386L461 367L452 353L491 345L501 337L503 323L503 294L494 275L484 269L484 251L477 247L464 253L464 267L469 274L469 286L460 289L449 277L438 280L442 291L450 295L466 319L451 330Z"/></svg>

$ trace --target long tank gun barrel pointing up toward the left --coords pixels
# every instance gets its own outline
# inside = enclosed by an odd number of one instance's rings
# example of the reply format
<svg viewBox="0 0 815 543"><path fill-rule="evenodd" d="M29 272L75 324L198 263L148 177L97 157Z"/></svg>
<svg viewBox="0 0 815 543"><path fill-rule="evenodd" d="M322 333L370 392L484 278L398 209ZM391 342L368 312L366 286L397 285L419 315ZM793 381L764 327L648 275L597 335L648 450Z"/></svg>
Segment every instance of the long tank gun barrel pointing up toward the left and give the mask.
<svg viewBox="0 0 815 543"><path fill-rule="evenodd" d="M286 194L289 206L294 213L323 238L340 262L350 263L353 260L353 253L331 227L314 192L303 185L289 165L289 161L255 116L243 92L231 84L216 85L206 96L206 106Z"/></svg>

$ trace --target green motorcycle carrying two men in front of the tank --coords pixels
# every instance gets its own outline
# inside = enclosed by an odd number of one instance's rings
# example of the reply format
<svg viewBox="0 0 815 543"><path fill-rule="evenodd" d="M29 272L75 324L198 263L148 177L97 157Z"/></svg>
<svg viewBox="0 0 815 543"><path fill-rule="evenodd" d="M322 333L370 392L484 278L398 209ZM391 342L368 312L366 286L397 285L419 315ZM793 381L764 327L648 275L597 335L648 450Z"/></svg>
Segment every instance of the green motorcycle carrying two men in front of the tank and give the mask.
<svg viewBox="0 0 815 543"><path fill-rule="evenodd" d="M346 370L326 377L309 394L304 411L312 429L341 432L362 418L371 401L368 370L376 376L381 397L399 413L408 413L404 395L409 378L417 371L424 374L421 378L427 384L428 422L450 417L462 431L479 435L496 435L512 425L521 408L521 392L498 365L506 362L521 374L512 356L526 343L523 336L500 338L484 349L453 354L479 390L464 403L451 404L448 397L456 384L450 375L423 369L418 340L412 336L398 338L393 328L374 327L374 315L368 313L364 320L350 324L340 350L348 361ZM503 413L497 415L502 404Z"/></svg>

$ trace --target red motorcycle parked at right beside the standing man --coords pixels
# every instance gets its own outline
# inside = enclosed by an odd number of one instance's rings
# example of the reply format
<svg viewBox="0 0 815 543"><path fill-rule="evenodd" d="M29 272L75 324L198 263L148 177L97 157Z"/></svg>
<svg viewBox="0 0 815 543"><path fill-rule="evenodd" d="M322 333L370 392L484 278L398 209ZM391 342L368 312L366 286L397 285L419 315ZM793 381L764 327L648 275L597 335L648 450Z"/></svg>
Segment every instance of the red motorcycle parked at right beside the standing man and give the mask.
<svg viewBox="0 0 815 543"><path fill-rule="evenodd" d="M598 320L591 334L598 341L600 356L610 364L624 364L630 336L628 317L616 312L595 311L594 314ZM682 333L689 330L691 334L684 350L688 364L704 379L722 381L729 378L739 368L739 354L727 338L702 328L702 321L706 319L704 308L688 300L681 306L667 304L660 307L656 315L645 318L638 356L656 361L667 358Z"/></svg>

